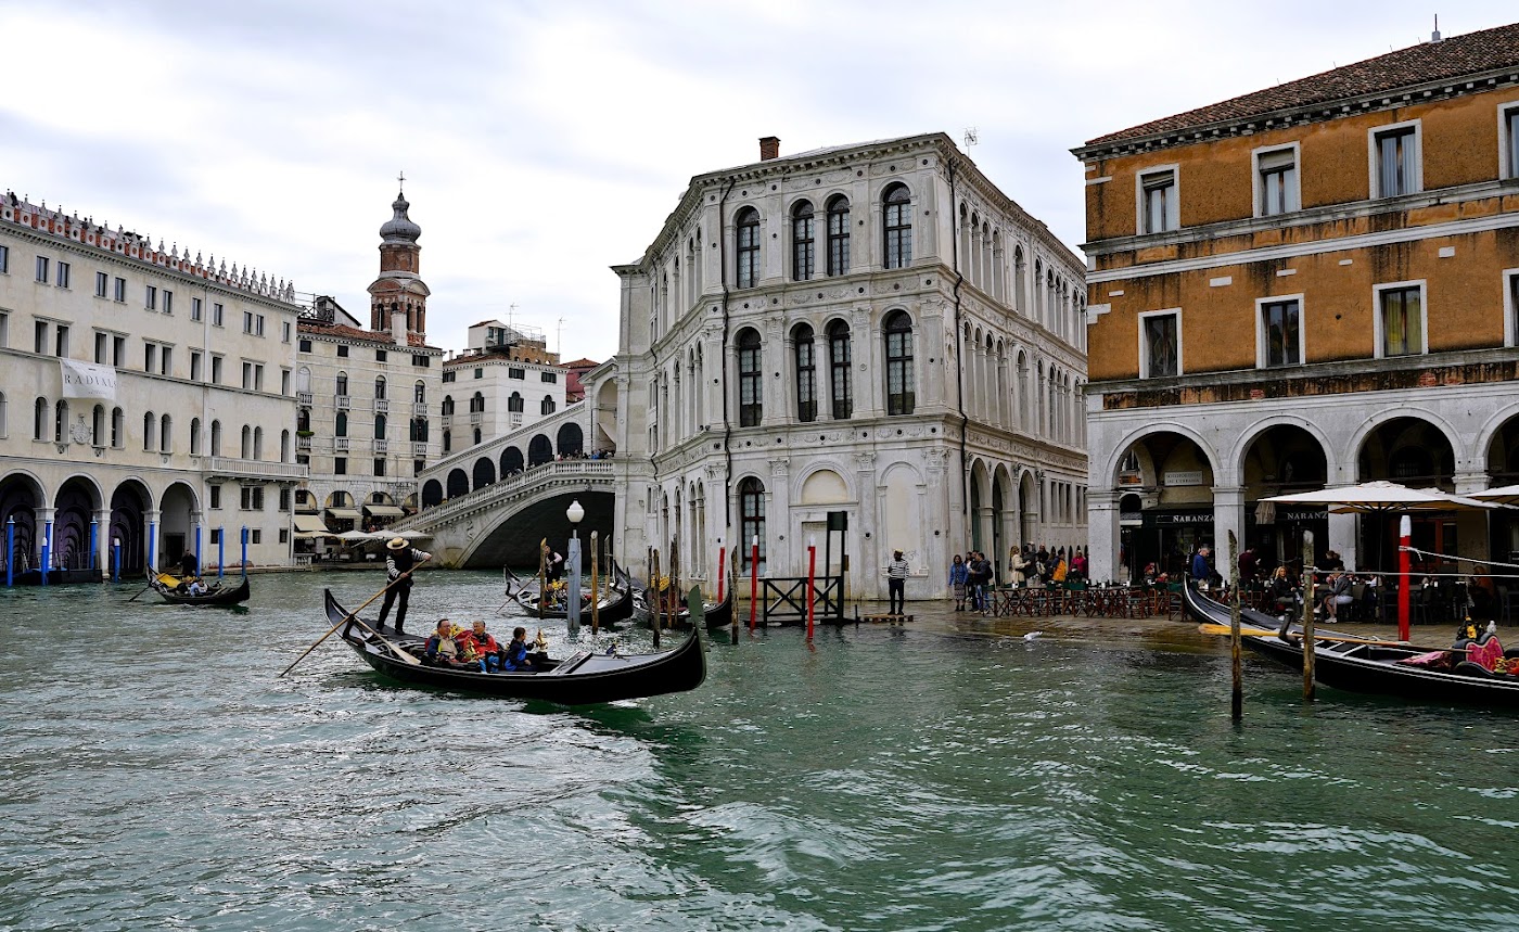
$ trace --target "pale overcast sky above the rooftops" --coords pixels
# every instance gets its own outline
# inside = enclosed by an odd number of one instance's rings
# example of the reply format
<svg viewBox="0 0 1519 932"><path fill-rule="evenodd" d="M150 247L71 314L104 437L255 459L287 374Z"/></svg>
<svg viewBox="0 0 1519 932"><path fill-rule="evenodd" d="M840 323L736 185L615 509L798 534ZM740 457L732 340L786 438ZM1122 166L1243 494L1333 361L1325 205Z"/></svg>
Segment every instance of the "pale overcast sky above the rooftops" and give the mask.
<svg viewBox="0 0 1519 932"><path fill-rule="evenodd" d="M617 351L618 281L694 175L943 131L1083 240L1069 149L1519 18L1508 2L0 0L0 190L255 266L368 320L406 172L428 342ZM562 345L561 345L562 332Z"/></svg>

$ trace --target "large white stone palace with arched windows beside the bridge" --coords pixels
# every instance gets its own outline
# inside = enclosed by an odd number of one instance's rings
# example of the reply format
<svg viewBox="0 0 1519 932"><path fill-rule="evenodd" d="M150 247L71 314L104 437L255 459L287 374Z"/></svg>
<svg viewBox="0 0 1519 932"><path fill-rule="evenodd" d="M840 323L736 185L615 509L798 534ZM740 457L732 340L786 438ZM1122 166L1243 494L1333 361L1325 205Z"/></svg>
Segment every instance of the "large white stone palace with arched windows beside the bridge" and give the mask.
<svg viewBox="0 0 1519 932"><path fill-rule="evenodd" d="M696 176L621 278L586 373L614 446L617 553L679 539L684 578L758 537L807 572L845 512L848 595L946 590L952 554L1085 543L1083 264L943 134ZM840 537L832 539L834 571Z"/></svg>

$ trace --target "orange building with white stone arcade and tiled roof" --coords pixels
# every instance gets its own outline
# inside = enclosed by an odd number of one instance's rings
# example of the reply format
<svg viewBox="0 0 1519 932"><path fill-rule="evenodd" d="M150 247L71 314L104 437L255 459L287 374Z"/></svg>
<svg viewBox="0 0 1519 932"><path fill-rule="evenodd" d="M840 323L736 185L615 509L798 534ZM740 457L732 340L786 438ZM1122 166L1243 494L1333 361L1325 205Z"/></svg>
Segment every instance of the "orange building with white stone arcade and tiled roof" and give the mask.
<svg viewBox="0 0 1519 932"><path fill-rule="evenodd" d="M1376 478L1519 481L1519 24L1098 137L1086 167L1092 574L1378 521L1256 501ZM1519 525L1416 546L1505 559ZM1220 569L1227 572L1220 560Z"/></svg>

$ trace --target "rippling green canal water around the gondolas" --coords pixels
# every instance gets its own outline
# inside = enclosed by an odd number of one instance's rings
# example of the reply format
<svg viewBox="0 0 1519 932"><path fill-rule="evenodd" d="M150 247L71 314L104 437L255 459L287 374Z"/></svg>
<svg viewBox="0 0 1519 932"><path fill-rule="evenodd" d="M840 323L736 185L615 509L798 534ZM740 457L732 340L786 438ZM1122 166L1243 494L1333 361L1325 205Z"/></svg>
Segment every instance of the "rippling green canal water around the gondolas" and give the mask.
<svg viewBox="0 0 1519 932"><path fill-rule="evenodd" d="M1249 660L1236 726L1220 645L1145 622L723 633L699 691L574 710L336 639L276 679L380 577L252 583L0 592L0 927L1519 927L1519 716ZM409 627L503 598L428 574Z"/></svg>

